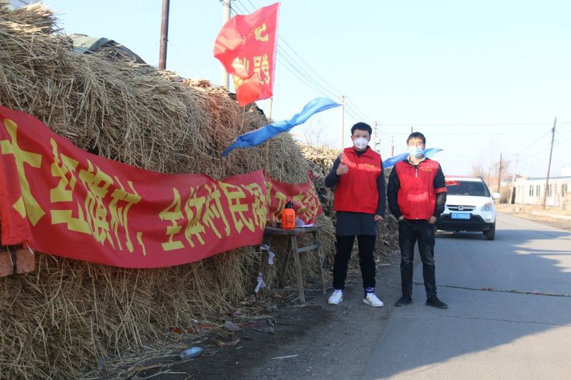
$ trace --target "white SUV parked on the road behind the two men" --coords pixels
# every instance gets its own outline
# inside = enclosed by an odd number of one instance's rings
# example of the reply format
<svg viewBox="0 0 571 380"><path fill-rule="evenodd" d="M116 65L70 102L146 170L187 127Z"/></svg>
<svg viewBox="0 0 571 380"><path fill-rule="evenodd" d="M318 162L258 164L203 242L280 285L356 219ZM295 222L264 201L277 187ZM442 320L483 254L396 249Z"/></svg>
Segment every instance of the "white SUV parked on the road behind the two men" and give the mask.
<svg viewBox="0 0 571 380"><path fill-rule="evenodd" d="M446 177L446 205L436 228L443 231L480 231L495 238L495 204L498 192L490 192L482 178Z"/></svg>

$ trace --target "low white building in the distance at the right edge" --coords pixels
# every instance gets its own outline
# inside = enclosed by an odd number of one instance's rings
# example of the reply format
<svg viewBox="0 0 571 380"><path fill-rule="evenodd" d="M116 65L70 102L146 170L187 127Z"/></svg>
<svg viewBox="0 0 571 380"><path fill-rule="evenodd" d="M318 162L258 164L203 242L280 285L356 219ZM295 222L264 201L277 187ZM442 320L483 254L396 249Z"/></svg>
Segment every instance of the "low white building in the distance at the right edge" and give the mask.
<svg viewBox="0 0 571 380"><path fill-rule="evenodd" d="M515 203L543 204L546 178L519 177L515 180ZM563 206L571 202L571 176L550 177L546 206Z"/></svg>

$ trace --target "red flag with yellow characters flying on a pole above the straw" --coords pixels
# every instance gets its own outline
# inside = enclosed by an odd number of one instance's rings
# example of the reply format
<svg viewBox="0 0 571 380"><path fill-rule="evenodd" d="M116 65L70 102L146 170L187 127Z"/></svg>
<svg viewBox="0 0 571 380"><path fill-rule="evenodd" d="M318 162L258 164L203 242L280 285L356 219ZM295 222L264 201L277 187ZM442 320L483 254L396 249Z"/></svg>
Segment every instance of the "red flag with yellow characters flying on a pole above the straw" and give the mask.
<svg viewBox="0 0 571 380"><path fill-rule="evenodd" d="M214 56L234 76L241 106L272 97L280 3L231 18L220 30Z"/></svg>

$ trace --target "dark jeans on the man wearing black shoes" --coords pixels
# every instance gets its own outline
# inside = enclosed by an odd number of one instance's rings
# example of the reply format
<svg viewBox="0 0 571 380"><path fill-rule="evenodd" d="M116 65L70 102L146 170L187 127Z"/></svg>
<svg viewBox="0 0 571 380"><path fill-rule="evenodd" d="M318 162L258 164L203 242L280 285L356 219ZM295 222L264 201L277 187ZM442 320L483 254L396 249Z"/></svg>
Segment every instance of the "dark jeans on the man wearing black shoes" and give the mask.
<svg viewBox="0 0 571 380"><path fill-rule="evenodd" d="M422 275L426 296L436 295L434 266L434 225L426 220L403 219L399 221L400 278L403 295L412 294L412 263L414 244L419 242Z"/></svg>

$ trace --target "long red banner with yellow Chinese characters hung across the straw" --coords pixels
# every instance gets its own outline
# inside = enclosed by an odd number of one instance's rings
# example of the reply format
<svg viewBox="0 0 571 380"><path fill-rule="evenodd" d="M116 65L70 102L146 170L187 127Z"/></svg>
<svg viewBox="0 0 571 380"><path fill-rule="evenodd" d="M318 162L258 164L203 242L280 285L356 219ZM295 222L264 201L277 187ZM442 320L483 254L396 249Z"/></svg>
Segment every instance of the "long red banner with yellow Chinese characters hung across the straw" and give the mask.
<svg viewBox="0 0 571 380"><path fill-rule="evenodd" d="M1 106L0 148L1 243L52 255L126 268L185 264L257 245L287 199L305 223L321 212L311 181L145 171Z"/></svg>

